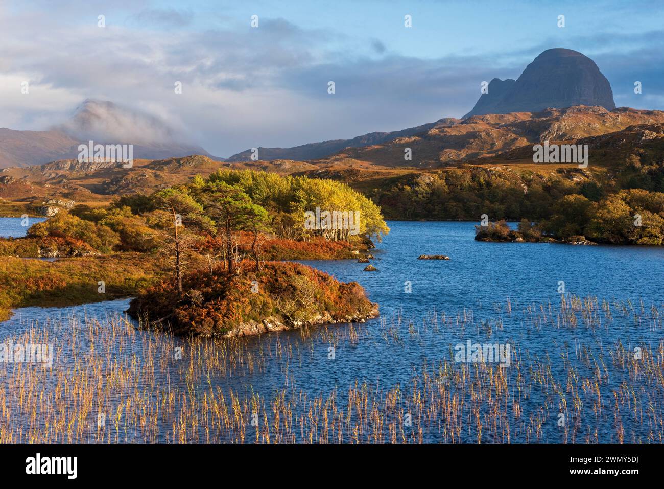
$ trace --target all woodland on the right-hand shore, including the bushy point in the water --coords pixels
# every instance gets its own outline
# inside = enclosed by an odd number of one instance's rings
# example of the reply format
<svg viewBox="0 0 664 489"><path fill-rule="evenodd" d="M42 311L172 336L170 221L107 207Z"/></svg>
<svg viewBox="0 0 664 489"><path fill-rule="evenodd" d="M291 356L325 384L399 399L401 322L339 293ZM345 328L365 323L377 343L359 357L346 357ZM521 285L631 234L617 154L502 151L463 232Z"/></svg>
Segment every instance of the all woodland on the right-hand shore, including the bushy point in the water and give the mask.
<svg viewBox="0 0 664 489"><path fill-rule="evenodd" d="M609 171L557 169L548 175L506 167L464 165L382 181L369 195L387 219L522 221L478 228L491 241L664 243L664 161L631 154ZM512 238L512 239L510 239Z"/></svg>

